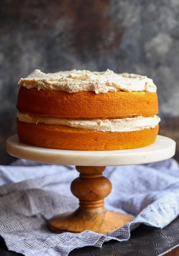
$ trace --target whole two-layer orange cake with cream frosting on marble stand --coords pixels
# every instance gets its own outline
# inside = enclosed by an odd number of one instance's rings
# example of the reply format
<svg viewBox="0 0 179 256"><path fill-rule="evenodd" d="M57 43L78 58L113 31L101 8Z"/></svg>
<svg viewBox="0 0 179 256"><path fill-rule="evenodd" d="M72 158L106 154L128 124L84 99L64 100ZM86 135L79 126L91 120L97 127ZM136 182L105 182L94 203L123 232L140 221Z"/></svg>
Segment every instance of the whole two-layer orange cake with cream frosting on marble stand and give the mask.
<svg viewBox="0 0 179 256"><path fill-rule="evenodd" d="M44 148L115 150L155 142L156 85L146 76L36 69L19 80L19 139Z"/></svg>

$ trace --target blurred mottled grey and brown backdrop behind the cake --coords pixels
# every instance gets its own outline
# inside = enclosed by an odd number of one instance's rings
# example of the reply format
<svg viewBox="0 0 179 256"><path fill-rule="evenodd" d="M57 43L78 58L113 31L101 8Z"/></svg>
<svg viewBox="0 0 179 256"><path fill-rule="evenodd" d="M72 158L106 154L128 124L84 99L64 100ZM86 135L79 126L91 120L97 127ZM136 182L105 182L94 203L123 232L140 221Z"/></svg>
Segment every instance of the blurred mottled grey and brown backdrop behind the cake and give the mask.
<svg viewBox="0 0 179 256"><path fill-rule="evenodd" d="M15 133L18 80L35 68L147 75L158 87L160 134L179 142L178 0L3 0L0 9L1 164L13 160L5 140Z"/></svg>

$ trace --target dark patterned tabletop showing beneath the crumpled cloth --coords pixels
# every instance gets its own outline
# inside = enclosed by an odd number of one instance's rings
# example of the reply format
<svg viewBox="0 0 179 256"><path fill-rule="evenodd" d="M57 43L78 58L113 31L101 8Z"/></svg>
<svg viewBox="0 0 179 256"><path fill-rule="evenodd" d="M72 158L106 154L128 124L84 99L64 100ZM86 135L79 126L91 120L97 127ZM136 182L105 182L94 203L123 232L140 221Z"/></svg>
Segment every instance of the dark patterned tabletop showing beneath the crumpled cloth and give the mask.
<svg viewBox="0 0 179 256"><path fill-rule="evenodd" d="M101 248L88 246L75 249L69 253L69 256L154 256L161 253L165 253L166 256L179 256L179 217L162 230L142 224L131 232L128 241L112 240ZM0 256L5 255L22 254L8 251L4 241L0 239Z"/></svg>

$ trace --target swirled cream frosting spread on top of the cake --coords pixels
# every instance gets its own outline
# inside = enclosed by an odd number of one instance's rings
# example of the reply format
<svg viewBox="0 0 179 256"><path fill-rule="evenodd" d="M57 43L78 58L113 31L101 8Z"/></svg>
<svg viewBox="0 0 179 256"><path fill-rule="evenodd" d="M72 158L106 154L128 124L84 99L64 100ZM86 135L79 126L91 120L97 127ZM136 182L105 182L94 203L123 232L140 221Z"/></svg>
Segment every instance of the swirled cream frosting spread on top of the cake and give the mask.
<svg viewBox="0 0 179 256"><path fill-rule="evenodd" d="M121 73L117 74L107 69L104 72L89 70L60 71L57 73L43 73L35 69L26 78L19 80L21 86L27 89L57 90L73 92L94 91L107 93L116 91L149 91L156 92L153 80L141 75Z"/></svg>

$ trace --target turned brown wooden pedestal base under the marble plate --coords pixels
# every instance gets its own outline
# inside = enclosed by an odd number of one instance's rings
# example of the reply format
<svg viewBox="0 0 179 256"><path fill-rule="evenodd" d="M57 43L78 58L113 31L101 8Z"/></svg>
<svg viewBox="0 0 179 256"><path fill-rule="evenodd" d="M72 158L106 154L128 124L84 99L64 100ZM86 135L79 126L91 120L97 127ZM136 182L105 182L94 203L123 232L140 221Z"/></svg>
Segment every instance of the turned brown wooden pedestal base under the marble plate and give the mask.
<svg viewBox="0 0 179 256"><path fill-rule="evenodd" d="M113 230L132 221L132 217L118 212L109 212L104 206L104 198L111 192L111 182L102 176L105 167L76 166L80 175L71 184L73 195L79 198L79 208L75 212L59 214L49 220L49 228L55 233L82 232L92 230L109 234Z"/></svg>

